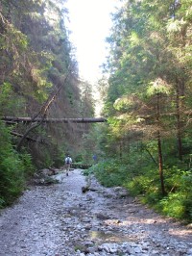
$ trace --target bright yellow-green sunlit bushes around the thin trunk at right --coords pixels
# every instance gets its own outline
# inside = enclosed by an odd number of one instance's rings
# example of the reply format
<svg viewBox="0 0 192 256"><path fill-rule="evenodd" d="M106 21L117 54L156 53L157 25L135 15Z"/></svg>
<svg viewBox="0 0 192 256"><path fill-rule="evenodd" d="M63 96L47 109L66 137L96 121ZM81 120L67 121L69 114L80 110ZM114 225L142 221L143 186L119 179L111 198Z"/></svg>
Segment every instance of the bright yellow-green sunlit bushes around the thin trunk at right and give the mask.
<svg viewBox="0 0 192 256"><path fill-rule="evenodd" d="M158 171L145 168L142 175L135 176L126 188L141 201L153 206L159 213L172 218L192 220L192 175L177 166L164 169L167 195L162 197Z"/></svg>

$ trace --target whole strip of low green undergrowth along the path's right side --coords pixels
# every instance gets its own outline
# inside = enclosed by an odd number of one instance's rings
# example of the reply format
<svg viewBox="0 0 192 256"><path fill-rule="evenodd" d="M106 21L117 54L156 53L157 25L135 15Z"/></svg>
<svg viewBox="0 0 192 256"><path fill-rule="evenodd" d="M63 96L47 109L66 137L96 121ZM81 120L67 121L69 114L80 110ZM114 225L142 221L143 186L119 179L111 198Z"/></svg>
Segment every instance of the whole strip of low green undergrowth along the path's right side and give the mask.
<svg viewBox="0 0 192 256"><path fill-rule="evenodd" d="M153 166L139 166L134 161L125 164L108 159L85 170L94 173L106 187L123 186L141 202L158 213L190 222L192 220L192 173L177 166L164 169L166 194L162 195L158 170Z"/></svg>

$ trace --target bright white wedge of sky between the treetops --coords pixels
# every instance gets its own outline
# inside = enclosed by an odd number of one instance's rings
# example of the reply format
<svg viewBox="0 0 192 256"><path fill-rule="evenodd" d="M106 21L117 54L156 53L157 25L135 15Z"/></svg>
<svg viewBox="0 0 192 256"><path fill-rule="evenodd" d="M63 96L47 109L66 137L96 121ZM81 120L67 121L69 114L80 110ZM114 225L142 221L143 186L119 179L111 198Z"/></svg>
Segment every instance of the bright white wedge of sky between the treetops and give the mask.
<svg viewBox="0 0 192 256"><path fill-rule="evenodd" d="M110 13L118 0L68 0L71 42L77 49L80 76L94 83L99 78L99 65L105 62L111 26Z"/></svg>

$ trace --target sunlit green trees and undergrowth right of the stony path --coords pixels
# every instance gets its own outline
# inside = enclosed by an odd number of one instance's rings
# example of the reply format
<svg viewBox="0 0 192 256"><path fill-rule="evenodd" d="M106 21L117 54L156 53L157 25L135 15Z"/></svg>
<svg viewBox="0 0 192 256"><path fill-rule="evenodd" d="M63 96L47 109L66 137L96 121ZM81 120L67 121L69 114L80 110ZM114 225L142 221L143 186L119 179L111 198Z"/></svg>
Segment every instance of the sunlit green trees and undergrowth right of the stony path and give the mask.
<svg viewBox="0 0 192 256"><path fill-rule="evenodd" d="M105 185L115 184L115 176L121 183L126 166L122 186L165 215L191 220L189 6L190 0L122 1L113 15L103 150L112 164L122 162L112 168L111 180L110 163L95 173Z"/></svg>

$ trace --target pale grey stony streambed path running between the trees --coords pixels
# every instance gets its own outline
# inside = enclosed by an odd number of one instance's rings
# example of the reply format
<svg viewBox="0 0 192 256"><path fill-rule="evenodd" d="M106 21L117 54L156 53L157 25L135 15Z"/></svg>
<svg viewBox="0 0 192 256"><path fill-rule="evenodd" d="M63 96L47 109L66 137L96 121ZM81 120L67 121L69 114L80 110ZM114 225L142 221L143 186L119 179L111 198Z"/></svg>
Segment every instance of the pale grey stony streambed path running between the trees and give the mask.
<svg viewBox="0 0 192 256"><path fill-rule="evenodd" d="M192 256L192 229L162 218L121 188L106 189L82 171L30 187L0 212L2 256Z"/></svg>

